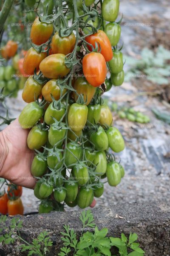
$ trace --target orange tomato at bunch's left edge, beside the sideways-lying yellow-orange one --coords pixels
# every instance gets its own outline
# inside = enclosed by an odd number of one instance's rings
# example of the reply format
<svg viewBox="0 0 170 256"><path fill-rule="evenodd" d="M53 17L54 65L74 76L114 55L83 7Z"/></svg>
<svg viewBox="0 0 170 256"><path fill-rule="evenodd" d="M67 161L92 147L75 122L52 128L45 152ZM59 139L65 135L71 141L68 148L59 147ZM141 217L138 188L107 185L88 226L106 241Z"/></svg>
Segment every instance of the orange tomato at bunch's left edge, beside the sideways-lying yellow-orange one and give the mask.
<svg viewBox="0 0 170 256"><path fill-rule="evenodd" d="M24 57L23 69L26 75L34 75L34 70L39 70L41 61L46 57L46 52L38 53L34 48L30 48Z"/></svg>

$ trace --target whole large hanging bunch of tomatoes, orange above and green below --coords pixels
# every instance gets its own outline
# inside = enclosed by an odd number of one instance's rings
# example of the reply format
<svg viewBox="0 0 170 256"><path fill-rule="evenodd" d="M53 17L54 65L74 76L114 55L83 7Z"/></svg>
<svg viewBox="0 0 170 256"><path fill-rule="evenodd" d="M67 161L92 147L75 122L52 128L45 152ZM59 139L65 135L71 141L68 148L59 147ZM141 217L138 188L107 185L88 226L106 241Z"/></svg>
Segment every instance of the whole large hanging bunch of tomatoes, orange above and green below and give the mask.
<svg viewBox="0 0 170 256"><path fill-rule="evenodd" d="M41 200L40 213L61 210L64 203L88 207L103 194L102 178L117 186L124 176L109 151L122 151L124 139L101 97L115 51L103 24L108 17L116 20L119 0L64 3L58 0L54 15L34 20L32 47L23 61L30 77L23 89L28 105L19 122L30 129L27 145L35 150L31 173L37 177L34 195Z"/></svg>

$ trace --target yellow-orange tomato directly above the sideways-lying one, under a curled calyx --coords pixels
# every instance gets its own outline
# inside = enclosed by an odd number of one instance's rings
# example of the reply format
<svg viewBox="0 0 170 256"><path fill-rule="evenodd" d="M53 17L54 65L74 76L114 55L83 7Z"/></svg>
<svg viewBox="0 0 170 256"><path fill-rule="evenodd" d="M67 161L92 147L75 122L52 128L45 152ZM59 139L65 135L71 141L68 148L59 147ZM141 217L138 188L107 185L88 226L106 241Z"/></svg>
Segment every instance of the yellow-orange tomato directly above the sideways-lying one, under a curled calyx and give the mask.
<svg viewBox="0 0 170 256"><path fill-rule="evenodd" d="M60 37L58 32L55 32L52 41L51 49L54 53L62 53L67 55L72 52L76 43L76 37L74 33L67 37Z"/></svg>

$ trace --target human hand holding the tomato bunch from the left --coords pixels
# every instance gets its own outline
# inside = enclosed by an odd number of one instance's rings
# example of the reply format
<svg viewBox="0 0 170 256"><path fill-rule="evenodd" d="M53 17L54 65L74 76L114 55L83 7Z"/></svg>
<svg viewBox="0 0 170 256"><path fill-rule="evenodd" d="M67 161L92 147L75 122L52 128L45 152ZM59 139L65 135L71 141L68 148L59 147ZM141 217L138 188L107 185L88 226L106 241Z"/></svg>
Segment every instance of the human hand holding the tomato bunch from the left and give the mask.
<svg viewBox="0 0 170 256"><path fill-rule="evenodd" d="M34 151L27 146L29 130L22 129L15 119L0 132L0 177L27 188L34 188L36 180L31 175Z"/></svg>

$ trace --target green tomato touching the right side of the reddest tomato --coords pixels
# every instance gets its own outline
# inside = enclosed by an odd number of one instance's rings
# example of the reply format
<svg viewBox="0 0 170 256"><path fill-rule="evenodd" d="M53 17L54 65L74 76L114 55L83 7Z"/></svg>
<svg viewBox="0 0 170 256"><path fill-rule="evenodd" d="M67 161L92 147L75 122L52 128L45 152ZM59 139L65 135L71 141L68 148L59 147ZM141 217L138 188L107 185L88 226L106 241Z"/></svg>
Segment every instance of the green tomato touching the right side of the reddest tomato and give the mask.
<svg viewBox="0 0 170 256"><path fill-rule="evenodd" d="M108 62L112 74L118 74L123 70L123 54L119 50L113 50L113 58Z"/></svg>

